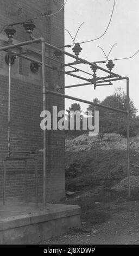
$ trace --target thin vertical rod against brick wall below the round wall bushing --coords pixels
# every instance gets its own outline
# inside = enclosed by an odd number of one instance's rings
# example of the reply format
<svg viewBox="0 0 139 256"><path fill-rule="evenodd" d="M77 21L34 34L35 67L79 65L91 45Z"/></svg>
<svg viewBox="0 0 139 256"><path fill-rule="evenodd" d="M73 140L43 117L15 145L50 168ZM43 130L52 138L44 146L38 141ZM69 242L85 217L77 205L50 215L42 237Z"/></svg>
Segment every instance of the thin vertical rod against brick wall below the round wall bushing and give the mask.
<svg viewBox="0 0 139 256"><path fill-rule="evenodd" d="M10 155L10 113L11 113L11 61L9 58L9 89L8 89L8 155Z"/></svg>

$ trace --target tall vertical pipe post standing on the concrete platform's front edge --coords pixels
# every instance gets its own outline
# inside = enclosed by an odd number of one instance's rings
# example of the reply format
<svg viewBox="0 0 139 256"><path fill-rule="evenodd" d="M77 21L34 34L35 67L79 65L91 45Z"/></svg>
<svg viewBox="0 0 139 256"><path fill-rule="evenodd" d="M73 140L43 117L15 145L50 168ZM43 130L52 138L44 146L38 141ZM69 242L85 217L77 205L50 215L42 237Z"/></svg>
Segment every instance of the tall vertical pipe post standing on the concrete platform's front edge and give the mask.
<svg viewBox="0 0 139 256"><path fill-rule="evenodd" d="M43 111L46 110L46 53L45 53L45 40L41 42L42 47L42 104ZM46 208L46 130L43 130L43 209Z"/></svg>

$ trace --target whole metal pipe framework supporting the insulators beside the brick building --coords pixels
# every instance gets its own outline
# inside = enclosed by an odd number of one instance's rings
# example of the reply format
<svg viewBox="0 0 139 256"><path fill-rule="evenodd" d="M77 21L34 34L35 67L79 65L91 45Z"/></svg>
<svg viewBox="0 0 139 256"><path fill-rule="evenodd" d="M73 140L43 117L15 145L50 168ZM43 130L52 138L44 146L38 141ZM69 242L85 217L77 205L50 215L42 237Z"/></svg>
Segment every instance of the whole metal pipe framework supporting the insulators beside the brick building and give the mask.
<svg viewBox="0 0 139 256"><path fill-rule="evenodd" d="M46 110L46 94L52 94L52 95L56 95L56 96L60 96L60 97L64 97L64 98L67 98L67 99L71 99L71 100L75 100L75 101L79 101L79 102L84 102L84 103L87 103L87 104L90 104L90 105L93 105L93 106L98 106L98 107L102 107L102 108L106 108L106 109L110 109L110 110L113 110L113 111L117 111L117 112L121 112L121 113L124 113L127 115L127 152L128 152L128 186L129 186L129 196L130 196L130 144L129 144L129 78L128 77L121 77L120 75L117 75L113 72L110 72L109 70L106 70L96 64L93 64L91 62L88 62L87 60L85 59L81 59L79 57L76 57L74 56L73 54L71 53L68 53L64 50L61 50L60 48L58 47L55 47L53 45L50 45L48 44L47 42L45 42L45 40L43 38L39 38L39 39L34 39L34 40L29 40L29 41L24 41L24 42L21 42L21 43L18 43L18 44L15 44L15 45L8 45L8 46L4 46L4 47L1 47L0 48L0 51L7 51L9 48L12 49L12 48L16 48L16 47L20 47L20 46L24 46L24 45L29 45L29 44L33 44L33 43L37 43L37 42L41 42L41 48L42 48L42 62L39 62L38 60L34 60L33 58L30 58L30 57L27 57L27 56L21 56L20 57L23 57L23 58L26 58L28 60L31 60L31 61L34 61L36 63L39 63L42 65L42 97L43 97L43 110ZM83 99L79 99L79 98L76 98L76 97L72 97L72 96L68 96L68 95L64 95L64 94L60 94L60 93L57 93L57 92L53 92L53 91L50 91L50 90L47 90L46 89L46 67L47 68L50 68L50 69L54 69L56 70L57 68L52 66L52 65L48 65L46 64L46 53L45 53L45 46L47 47L50 47L50 48L53 48L54 50L58 50L64 54L66 54L67 56L69 57L72 57L74 59L77 60L77 63L80 62L80 63L84 63L84 64L88 64L90 66L93 66L94 68L97 68L99 70L102 70L106 73L108 73L110 76L112 75L113 77L110 77L110 79L106 79L105 82L112 82L112 81L119 81L119 80L127 80L127 111L123 111L122 109L117 109L117 108L113 108L113 107L110 107L110 106L105 106L105 105L102 105L102 104L97 104L97 103L93 103L91 101L87 101L87 100L83 100ZM71 63L72 65L73 63ZM76 63L75 63L76 64ZM69 65L69 64L68 64ZM66 66L66 65L65 65ZM64 74L66 74L65 71L62 71ZM71 75L71 76L74 76L76 78L80 78L80 79L83 79L83 77L79 77L79 76L75 76L73 74L68 74L68 75ZM116 77L116 78L115 78ZM107 77L106 77L107 78ZM97 84L101 85L101 83L104 83L104 77L102 78L99 78L100 80L102 79L102 81L97 81ZM92 81L91 80L88 80L87 78L84 78L83 80L86 80L86 81L89 81L90 83L89 84L92 84ZM83 84L82 84L83 85ZM85 85L85 84L84 84ZM87 85L87 84L86 84ZM78 85L75 85L75 86L78 86ZM74 86L74 87L75 87ZM81 84L79 85L81 86ZM72 86L73 87L73 86ZM46 166L46 130L43 131L43 209L46 208L46 173L47 173L47 166ZM5 164L4 164L4 168L5 168Z"/></svg>

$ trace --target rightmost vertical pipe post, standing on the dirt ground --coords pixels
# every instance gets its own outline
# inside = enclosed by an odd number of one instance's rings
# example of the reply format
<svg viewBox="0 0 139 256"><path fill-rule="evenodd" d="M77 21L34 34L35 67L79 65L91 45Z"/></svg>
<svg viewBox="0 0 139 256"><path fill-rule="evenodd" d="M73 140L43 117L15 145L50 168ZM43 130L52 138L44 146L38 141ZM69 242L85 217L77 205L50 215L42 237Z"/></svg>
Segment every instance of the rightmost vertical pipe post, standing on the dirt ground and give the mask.
<svg viewBox="0 0 139 256"><path fill-rule="evenodd" d="M130 135L129 135L129 78L127 80L127 154L128 154L128 196L131 196L130 187Z"/></svg>

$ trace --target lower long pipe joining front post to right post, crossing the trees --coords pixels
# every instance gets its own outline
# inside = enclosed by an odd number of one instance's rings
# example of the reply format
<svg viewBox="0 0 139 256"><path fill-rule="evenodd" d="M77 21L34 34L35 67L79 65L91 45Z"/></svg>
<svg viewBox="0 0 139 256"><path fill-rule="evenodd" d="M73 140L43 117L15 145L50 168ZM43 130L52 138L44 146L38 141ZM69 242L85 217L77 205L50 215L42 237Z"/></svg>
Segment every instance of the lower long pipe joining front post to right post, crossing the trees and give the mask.
<svg viewBox="0 0 139 256"><path fill-rule="evenodd" d="M105 106L105 105L102 105L102 104L97 104L97 103L94 103L92 101L87 101L87 100L83 100L83 99L80 99L80 98L77 98L77 97L72 97L72 96L69 96L69 95L56 93L56 92L53 92L51 90L46 89L46 93L56 95L56 96L59 96L59 97L64 97L64 98L69 99L69 100L75 100L75 101L87 103L87 104L92 105L92 106L102 107L102 108L106 108L106 109L109 109L109 110L113 110L113 111L121 112L121 113L124 113L124 114L128 114L127 111L124 111L122 109L113 108L113 107Z"/></svg>

